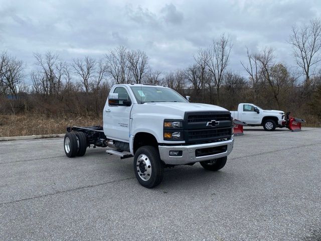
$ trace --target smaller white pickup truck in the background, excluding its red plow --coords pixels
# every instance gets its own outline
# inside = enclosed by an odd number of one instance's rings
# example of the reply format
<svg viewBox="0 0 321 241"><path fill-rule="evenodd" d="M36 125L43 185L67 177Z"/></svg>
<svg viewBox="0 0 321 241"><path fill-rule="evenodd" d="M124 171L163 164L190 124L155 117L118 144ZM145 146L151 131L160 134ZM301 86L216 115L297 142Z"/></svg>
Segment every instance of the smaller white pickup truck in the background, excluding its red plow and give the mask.
<svg viewBox="0 0 321 241"><path fill-rule="evenodd" d="M285 115L281 110L264 110L251 103L240 103L237 111L230 111L234 119L247 123L248 126L263 126L265 131L285 127Z"/></svg>

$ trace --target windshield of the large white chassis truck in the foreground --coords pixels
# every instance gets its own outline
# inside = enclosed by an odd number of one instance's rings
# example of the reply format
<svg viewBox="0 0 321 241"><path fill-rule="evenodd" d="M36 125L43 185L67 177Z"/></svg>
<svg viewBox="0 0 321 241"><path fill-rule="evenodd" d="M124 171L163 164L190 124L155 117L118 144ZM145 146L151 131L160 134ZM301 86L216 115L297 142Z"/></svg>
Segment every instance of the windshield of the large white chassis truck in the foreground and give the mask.
<svg viewBox="0 0 321 241"><path fill-rule="evenodd" d="M138 104L146 102L188 102L173 89L161 87L130 86Z"/></svg>

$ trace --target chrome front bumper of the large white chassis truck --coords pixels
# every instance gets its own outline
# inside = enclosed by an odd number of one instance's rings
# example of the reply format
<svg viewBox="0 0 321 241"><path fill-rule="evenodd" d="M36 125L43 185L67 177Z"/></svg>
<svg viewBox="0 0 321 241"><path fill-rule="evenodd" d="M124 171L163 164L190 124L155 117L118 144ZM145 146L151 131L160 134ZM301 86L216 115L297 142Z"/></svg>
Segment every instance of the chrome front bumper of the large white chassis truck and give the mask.
<svg viewBox="0 0 321 241"><path fill-rule="evenodd" d="M208 161L220 157L228 156L233 149L234 139L224 141L224 142L214 142L207 144L198 144L198 145L190 145L190 146L158 146L159 155L161 156L161 160L169 165L182 165L188 163L202 162ZM220 147L227 145L227 149L225 152L197 157L195 151L197 149L211 148L211 147ZM183 155L180 157L170 156L170 151L182 151Z"/></svg>

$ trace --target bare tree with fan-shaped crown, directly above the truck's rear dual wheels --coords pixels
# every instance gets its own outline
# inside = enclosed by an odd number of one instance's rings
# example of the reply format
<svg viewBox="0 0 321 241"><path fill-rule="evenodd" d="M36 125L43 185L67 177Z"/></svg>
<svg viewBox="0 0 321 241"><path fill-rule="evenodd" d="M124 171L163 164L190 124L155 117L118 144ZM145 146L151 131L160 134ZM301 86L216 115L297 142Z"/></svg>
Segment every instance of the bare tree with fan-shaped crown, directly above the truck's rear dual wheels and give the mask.
<svg viewBox="0 0 321 241"><path fill-rule="evenodd" d="M90 79L95 74L95 65L96 60L89 56L85 56L83 59L74 59L72 63L75 74L81 78L81 83L86 93L89 92Z"/></svg>

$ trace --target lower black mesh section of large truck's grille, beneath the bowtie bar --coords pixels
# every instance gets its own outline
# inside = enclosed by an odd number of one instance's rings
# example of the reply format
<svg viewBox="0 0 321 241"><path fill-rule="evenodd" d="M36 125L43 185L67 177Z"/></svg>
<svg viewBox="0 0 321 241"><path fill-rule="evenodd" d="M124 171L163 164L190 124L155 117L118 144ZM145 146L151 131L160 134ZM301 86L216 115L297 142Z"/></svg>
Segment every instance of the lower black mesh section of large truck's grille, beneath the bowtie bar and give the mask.
<svg viewBox="0 0 321 241"><path fill-rule="evenodd" d="M231 128L211 129L211 130L193 130L188 132L189 140L208 139L208 138L226 138L231 135Z"/></svg>

